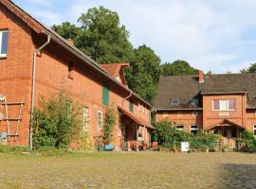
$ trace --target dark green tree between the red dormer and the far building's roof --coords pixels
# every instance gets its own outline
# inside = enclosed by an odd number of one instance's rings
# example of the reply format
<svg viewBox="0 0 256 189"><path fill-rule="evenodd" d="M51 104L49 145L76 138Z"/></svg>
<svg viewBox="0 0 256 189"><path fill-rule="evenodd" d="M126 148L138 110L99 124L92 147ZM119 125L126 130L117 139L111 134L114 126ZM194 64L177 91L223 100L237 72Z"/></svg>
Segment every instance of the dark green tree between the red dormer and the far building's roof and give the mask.
<svg viewBox="0 0 256 189"><path fill-rule="evenodd" d="M134 52L135 60L126 71L129 87L152 103L155 97L155 85L161 72L160 59L155 55L154 50L145 44L139 46Z"/></svg>

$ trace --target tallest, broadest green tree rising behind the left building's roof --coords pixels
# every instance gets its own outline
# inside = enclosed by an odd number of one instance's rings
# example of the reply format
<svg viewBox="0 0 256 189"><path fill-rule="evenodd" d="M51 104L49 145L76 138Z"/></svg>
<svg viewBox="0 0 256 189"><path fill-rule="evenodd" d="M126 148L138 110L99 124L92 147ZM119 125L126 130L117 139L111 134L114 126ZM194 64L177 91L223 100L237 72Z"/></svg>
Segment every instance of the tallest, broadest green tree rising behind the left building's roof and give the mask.
<svg viewBox="0 0 256 189"><path fill-rule="evenodd" d="M83 53L99 63L133 59L133 46L128 41L129 32L125 26L120 26L116 11L103 7L88 9L78 22L80 27L64 23L52 28L65 39L73 39Z"/></svg>

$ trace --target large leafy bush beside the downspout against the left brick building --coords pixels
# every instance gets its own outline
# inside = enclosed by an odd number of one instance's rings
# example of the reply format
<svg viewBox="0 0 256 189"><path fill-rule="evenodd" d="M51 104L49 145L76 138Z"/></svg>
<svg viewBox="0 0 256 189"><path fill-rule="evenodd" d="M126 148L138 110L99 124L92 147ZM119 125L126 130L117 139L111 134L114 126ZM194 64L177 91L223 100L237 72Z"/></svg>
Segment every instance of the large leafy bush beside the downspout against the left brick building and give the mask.
<svg viewBox="0 0 256 189"><path fill-rule="evenodd" d="M40 99L33 119L33 146L67 147L82 131L82 107L64 91Z"/></svg>

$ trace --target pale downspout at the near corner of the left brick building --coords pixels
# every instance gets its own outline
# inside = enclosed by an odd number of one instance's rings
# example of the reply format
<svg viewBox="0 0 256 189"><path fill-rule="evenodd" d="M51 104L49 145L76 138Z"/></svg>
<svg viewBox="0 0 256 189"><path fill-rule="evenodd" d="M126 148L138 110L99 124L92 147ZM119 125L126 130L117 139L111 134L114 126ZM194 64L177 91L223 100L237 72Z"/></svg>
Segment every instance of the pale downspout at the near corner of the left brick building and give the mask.
<svg viewBox="0 0 256 189"><path fill-rule="evenodd" d="M46 34L45 31L42 33ZM29 123L29 146L30 149L33 148L33 114L34 114L34 101L35 101L35 77L36 77L36 56L46 45L50 43L50 36L47 35L47 41L38 49L34 50L33 54L33 69L32 69L32 87L31 87L31 106L30 106L30 123Z"/></svg>

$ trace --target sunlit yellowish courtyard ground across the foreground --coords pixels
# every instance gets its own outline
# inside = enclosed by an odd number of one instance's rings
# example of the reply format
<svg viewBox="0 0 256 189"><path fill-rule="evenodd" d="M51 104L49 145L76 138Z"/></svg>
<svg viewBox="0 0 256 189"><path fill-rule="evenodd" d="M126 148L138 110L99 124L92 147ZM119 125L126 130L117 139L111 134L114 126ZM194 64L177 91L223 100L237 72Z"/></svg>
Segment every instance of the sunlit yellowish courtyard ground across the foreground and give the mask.
<svg viewBox="0 0 256 189"><path fill-rule="evenodd" d="M0 154L0 188L256 188L256 154Z"/></svg>

